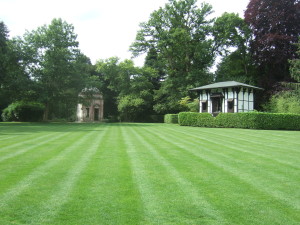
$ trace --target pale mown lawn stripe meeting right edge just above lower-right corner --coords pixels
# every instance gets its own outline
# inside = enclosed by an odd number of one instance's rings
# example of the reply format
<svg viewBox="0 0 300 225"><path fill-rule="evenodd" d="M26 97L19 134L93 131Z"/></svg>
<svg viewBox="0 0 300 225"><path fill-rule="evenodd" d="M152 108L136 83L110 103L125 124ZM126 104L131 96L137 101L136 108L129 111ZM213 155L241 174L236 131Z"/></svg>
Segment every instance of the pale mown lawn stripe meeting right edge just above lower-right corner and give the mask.
<svg viewBox="0 0 300 225"><path fill-rule="evenodd" d="M149 130L148 130L149 132ZM243 180L247 184L251 185L253 188L263 191L266 195L270 195L270 197L277 199L281 201L283 204L292 207L295 210L300 209L300 199L295 199L293 195L287 195L286 192L283 190L276 190L274 187L268 187L268 183L270 179L267 179L267 177L263 177L262 179L259 179L258 176L253 176L251 173L248 173L247 170L243 171L242 167L235 168L232 166L232 164L235 164L235 160L228 157L226 154L218 153L213 151L213 149L205 148L201 143L197 143L196 141L188 141L186 139L176 140L176 141L170 141L174 138L172 138L172 135L170 135L168 132L166 132L164 135L157 135L157 131L153 132L153 135L157 136L157 138L164 140L165 142L169 144L173 144L181 148L183 151L188 151L192 154L194 154L197 157L200 157L201 159L204 159L215 166L227 171L228 173L231 173L233 176L238 177L239 179ZM201 149L201 152L197 152L196 149ZM224 145L224 149L231 148L231 146ZM203 154L204 152L207 152L208 154ZM216 155L217 158L212 157L213 155ZM220 156L218 158L218 155ZM228 162L224 159L227 159ZM270 177L269 177L270 178ZM277 181L279 182L281 179L278 178ZM261 183L261 184L260 184ZM281 186L282 183L276 183L275 184Z"/></svg>

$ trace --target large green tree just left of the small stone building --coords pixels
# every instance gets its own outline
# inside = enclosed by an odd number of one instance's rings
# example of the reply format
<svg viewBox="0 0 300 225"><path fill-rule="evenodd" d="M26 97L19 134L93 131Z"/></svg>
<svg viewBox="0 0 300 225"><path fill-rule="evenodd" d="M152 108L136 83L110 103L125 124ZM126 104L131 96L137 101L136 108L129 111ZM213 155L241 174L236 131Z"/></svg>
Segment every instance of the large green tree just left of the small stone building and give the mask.
<svg viewBox="0 0 300 225"><path fill-rule="evenodd" d="M91 63L79 48L74 27L61 19L27 32L20 40L29 76L37 84L39 100L45 104L44 119L70 117L75 113L78 93L86 86Z"/></svg>

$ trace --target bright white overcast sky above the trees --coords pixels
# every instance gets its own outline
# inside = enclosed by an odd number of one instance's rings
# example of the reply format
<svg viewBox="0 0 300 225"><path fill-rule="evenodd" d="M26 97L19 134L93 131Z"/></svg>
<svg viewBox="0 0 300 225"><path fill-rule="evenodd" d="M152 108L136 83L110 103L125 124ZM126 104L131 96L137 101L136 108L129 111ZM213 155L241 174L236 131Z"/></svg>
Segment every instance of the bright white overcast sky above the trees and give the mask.
<svg viewBox="0 0 300 225"><path fill-rule="evenodd" d="M213 6L213 16L224 12L244 11L250 0L205 0ZM50 24L61 18L75 28L80 50L92 63L117 56L131 58L129 46L134 42L139 24L164 7L168 0L0 0L0 21L10 37ZM200 6L202 0L198 0ZM144 57L134 59L142 66Z"/></svg>

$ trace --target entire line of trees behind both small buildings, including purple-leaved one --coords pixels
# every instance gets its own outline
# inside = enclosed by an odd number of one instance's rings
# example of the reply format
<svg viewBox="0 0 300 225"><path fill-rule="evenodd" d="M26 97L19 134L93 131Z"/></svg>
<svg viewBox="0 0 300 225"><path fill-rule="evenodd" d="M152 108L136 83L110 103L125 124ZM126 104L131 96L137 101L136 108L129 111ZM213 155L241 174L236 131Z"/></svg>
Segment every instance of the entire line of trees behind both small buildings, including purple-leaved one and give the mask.
<svg viewBox="0 0 300 225"><path fill-rule="evenodd" d="M17 38L9 38L1 22L0 109L38 103L44 120L72 121L78 93L97 87L106 118L143 121L194 108L190 88L236 80L265 88L264 109L278 111L280 99L292 96L297 112L299 91L291 83L300 81L299 11L296 0L251 0L245 19L234 13L212 18L209 4L169 0L140 24L129 47L133 56L146 54L141 68L117 57L92 65L78 47L74 27L61 19ZM212 73L218 56L222 60Z"/></svg>

